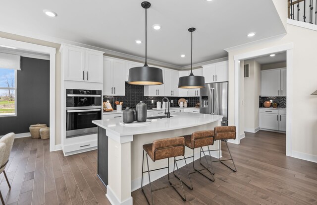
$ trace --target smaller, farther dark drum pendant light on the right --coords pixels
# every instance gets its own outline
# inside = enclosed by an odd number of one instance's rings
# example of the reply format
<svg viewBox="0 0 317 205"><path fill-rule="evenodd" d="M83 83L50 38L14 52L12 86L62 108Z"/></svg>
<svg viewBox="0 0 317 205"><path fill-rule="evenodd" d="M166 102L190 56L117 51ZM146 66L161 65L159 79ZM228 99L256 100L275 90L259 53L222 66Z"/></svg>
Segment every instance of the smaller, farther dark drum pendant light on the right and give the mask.
<svg viewBox="0 0 317 205"><path fill-rule="evenodd" d="M205 87L205 77L193 74L193 31L196 28L189 28L188 31L192 33L192 55L191 55L191 70L188 76L180 77L178 80L179 88L202 88Z"/></svg>

